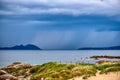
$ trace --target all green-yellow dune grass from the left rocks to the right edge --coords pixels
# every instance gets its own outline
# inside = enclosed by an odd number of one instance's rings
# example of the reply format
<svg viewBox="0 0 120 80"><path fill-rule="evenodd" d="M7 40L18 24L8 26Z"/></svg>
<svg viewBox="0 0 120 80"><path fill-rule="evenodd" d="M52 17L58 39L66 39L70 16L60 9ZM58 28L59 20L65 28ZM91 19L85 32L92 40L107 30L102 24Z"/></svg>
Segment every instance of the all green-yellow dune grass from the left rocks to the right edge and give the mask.
<svg viewBox="0 0 120 80"><path fill-rule="evenodd" d="M100 71L100 74L120 71L120 62L106 62L104 64L49 62L30 69L31 80L40 80L41 78L45 80L68 80L77 76L83 76L83 79L87 79L90 76L95 76L97 71Z"/></svg>

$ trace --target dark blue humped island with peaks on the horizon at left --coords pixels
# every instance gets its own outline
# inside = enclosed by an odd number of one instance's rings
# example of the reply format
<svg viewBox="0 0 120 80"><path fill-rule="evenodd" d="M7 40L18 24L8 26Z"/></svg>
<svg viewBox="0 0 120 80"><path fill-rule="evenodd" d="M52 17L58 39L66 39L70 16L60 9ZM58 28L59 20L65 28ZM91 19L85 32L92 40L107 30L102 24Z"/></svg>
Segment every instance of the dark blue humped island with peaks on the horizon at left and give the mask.
<svg viewBox="0 0 120 80"><path fill-rule="evenodd" d="M33 44L28 44L28 45L16 45L13 47L0 47L0 50L41 50L41 49Z"/></svg>

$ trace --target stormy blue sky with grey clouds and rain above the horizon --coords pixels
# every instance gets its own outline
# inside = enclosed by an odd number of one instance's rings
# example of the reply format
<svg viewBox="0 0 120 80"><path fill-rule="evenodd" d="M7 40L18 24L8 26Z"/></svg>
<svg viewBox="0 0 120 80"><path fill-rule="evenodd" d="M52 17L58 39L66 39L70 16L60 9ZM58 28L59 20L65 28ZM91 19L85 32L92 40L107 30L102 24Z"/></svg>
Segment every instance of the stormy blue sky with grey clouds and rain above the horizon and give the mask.
<svg viewBox="0 0 120 80"><path fill-rule="evenodd" d="M120 45L120 0L0 0L0 47Z"/></svg>

